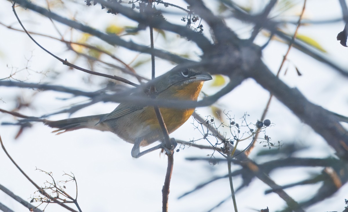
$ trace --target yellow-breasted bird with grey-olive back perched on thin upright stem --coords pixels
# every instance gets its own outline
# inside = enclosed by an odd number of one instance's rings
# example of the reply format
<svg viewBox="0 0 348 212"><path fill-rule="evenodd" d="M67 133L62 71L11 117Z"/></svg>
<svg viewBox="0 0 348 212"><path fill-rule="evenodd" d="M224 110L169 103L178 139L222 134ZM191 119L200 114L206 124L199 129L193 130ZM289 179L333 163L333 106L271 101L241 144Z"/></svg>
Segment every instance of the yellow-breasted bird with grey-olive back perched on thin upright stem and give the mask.
<svg viewBox="0 0 348 212"><path fill-rule="evenodd" d="M197 97L203 86L203 82L211 80L208 73L193 69L177 69L155 78L147 83L146 88L150 90L151 85L156 88L156 99L160 100L192 100ZM142 95L148 95L142 91ZM195 108L159 108L166 124L168 133L174 132L185 123L192 115ZM156 147L140 152L140 146L147 146L163 138L158 119L153 106L137 106L121 103L111 113L69 118L59 121L45 121L45 124L59 128L54 132L64 130L72 131L80 128L98 129L111 131L123 140L133 143L132 156L138 158L150 151L164 148L163 143ZM63 133L63 132L60 132ZM58 133L58 134L60 134Z"/></svg>

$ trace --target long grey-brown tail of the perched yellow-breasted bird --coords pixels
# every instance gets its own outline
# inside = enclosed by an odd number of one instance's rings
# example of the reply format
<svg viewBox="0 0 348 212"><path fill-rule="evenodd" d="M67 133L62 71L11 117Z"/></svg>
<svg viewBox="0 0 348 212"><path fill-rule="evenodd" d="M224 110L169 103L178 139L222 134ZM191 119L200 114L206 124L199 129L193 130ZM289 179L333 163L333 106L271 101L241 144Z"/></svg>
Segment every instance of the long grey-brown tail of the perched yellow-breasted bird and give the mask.
<svg viewBox="0 0 348 212"><path fill-rule="evenodd" d="M95 116L84 116L84 117L78 117L78 118L68 118L68 119L63 119L58 121L46 120L44 124L52 128L58 128L57 130L53 131L54 133L58 132L57 135L64 132L72 131L75 129L81 129L81 128L91 128L91 129L99 129L101 131L107 131L109 130L108 126L106 126L104 123L98 124L100 119L105 115L106 114L95 115ZM63 131L63 132L60 132L60 131Z"/></svg>

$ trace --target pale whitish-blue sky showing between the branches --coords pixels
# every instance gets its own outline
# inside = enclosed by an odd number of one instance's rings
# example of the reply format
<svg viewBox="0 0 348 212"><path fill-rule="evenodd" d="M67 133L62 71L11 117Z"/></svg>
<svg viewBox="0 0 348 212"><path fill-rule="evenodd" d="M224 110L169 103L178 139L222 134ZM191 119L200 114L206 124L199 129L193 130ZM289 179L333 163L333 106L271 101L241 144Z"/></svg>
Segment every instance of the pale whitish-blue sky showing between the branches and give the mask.
<svg viewBox="0 0 348 212"><path fill-rule="evenodd" d="M34 1L38 5L45 6L45 1ZM183 2L168 1L179 3L185 7ZM217 1L209 1L209 8L216 9ZM258 11L260 5L267 1L240 1L245 6L250 2L253 5L253 11ZM245 3L247 2L247 3ZM282 13L275 19L291 18L297 21L297 17L302 9L303 1L299 5ZM110 24L120 26L136 26L121 15L106 14L100 10L100 6L87 7L80 5L81 2L74 3L69 1L65 7L54 8L58 14L71 18L75 16L78 21L87 23L94 28L105 30ZM159 6L158 6L159 7ZM171 11L179 12L171 8ZM52 23L46 18L33 13L29 10L23 10L17 7L17 13L22 19L27 30L50 34L54 37L59 35L54 30ZM274 15L278 15L274 11ZM168 20L171 21L171 19ZM179 15L180 17L180 15ZM341 17L341 10L338 1L325 0L308 0L304 14L306 19L325 20ZM11 3L2 2L0 9L0 22L19 28L11 9ZM180 18L176 18L175 23L182 23ZM236 30L242 38L247 38L249 27L235 21L228 22L229 26ZM70 37L78 40L81 38L80 32L70 32L65 26L57 24L64 37L68 40ZM293 33L294 26L290 25L288 32ZM343 47L336 40L337 33L343 30L343 22L334 22L321 25L301 26L299 34L309 36L316 40L326 51L325 54L330 60L337 61L342 67L347 67L348 48ZM206 28L207 29L207 28ZM68 86L81 89L84 91L95 91L104 86L105 80L102 77L93 76L77 70L68 70L66 66L45 53L36 46L24 33L9 30L0 26L0 78L8 77L11 73L16 72L14 76L19 80L26 80L30 83L53 83L55 85ZM209 36L208 30L205 30ZM140 32L137 37L131 37L134 42L149 45L148 31ZM155 35L155 47L163 48L177 54L189 54L190 58L198 60L199 49L187 42L185 39L178 39L176 35L166 33L166 39ZM61 58L67 58L69 62L74 62L82 68L89 68L84 59L76 60L76 56L67 51L66 47L59 41L34 36L34 38L48 50ZM129 39L130 37L124 37ZM267 39L259 36L256 43L264 44ZM115 48L109 46L98 39L92 39L91 44L102 44L104 48L112 50L113 53L125 62L130 62L137 53L125 50L124 48ZM274 72L278 70L287 45L278 41L271 41L263 51L263 59ZM149 55L139 55L137 61L147 60ZM76 61L75 61L76 60ZM108 57L103 60L114 62ZM347 78L342 77L329 66L317 62L298 50L292 48L288 55L285 68L288 67L286 76L281 74L281 79L289 86L298 88L311 102L321 105L331 111L348 116L348 83ZM296 74L294 65L302 73L299 77ZM156 60L157 76L170 70L174 65L165 61ZM25 69L25 67L29 69ZM105 72L105 65L97 64L96 71ZM143 76L150 76L150 64L146 63L136 68L136 71ZM284 73L283 70L283 73ZM39 73L43 72L45 74ZM57 73L61 73L56 78ZM109 71L110 74L120 74L119 71ZM136 82L134 78L129 78ZM227 79L226 79L227 80ZM212 80L213 81L213 80ZM212 87L212 81L205 83L203 91L207 94L214 94L221 87ZM35 95L34 95L35 94ZM87 99L78 97L74 99L62 100L69 98L70 95L57 92L35 92L30 89L17 89L0 87L0 108L11 110L15 108L17 97L23 98L24 101L32 101L31 108L22 109L20 112L28 116L42 116L53 113L71 104L83 103ZM216 104L222 110L231 111L236 120L247 112L250 116L247 121L254 123L261 117L264 106L267 103L269 94L253 80L246 80L242 85L234 89L228 95L222 97ZM74 113L71 117L88 116L111 112L117 106L116 103L97 103L88 108ZM209 108L197 108L197 113L202 116L212 115ZM59 120L68 118L67 114L52 116L50 120ZM267 135L272 138L273 142L282 141L284 144L295 142L299 146L310 146L310 148L300 151L295 156L298 157L326 157L333 156L334 151L326 142L318 136L307 125L295 117L282 103L274 99L270 105L267 117L275 126L267 128ZM0 114L0 122L15 122L15 119L6 114ZM171 137L190 140L200 138L201 135L192 126L192 118L185 123ZM347 127L347 125L345 125ZM65 180L62 176L64 172L74 173L78 183L78 202L84 212L90 211L161 211L162 194L161 189L167 168L167 158L160 155L159 151L151 152L139 159L130 156L132 144L126 143L110 132L100 132L92 129L80 129L78 131L68 132L56 136L52 129L41 123L35 123L32 128L27 129L17 140L14 139L18 132L17 126L1 126L0 135L5 147L11 157L26 172L31 179L39 185L43 185L46 180L50 180L47 175L35 171L35 167L53 172L55 180ZM157 143L155 143L157 145ZM199 144L208 145L205 141ZM247 145L247 144L245 144ZM240 149L242 149L242 146ZM256 153L264 150L262 144L256 145L250 157L254 159ZM169 195L169 211L185 212L197 211L205 212L219 203L222 199L230 195L228 179L218 180L209 186L198 190L182 199L178 196L191 190L199 183L205 182L215 176L227 173L226 163L220 163L211 166L206 162L189 162L187 157L197 156L205 157L211 154L211 150L200 150L196 148L185 148L174 155L174 169ZM219 157L217 154L215 155ZM259 162L259 161L256 161ZM260 162L261 163L261 162ZM234 166L234 169L239 168ZM10 162L5 153L0 151L0 184L13 191L23 199L28 199L33 195L36 188L16 169ZM282 185L306 179L311 173L318 173L321 168L287 168L272 172L270 177L276 183ZM239 177L234 178L235 187L241 183ZM67 191L74 194L75 187L73 183L67 184ZM286 189L291 197L296 201L310 198L311 194L316 193L319 184L314 186L301 186ZM260 211L267 206L270 211L282 209L285 202L276 194L264 195L264 191L269 189L268 186L261 183L260 180L254 180L250 186L237 193L237 205L239 211ZM318 203L306 211L343 211L344 199L348 199L348 186L344 185L335 195L327 198L325 201ZM10 207L14 211L26 211L27 209L9 196L0 191L0 202ZM74 205L70 205L74 208ZM222 204L214 211L232 211L233 204L231 199ZM42 207L41 207L42 209ZM46 208L47 212L63 211L61 206L50 204Z"/></svg>

